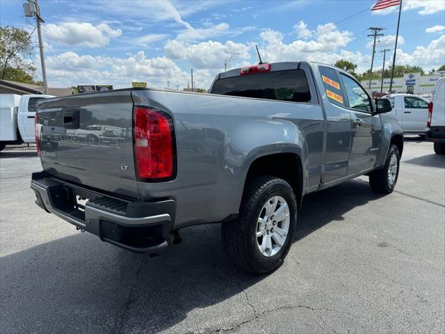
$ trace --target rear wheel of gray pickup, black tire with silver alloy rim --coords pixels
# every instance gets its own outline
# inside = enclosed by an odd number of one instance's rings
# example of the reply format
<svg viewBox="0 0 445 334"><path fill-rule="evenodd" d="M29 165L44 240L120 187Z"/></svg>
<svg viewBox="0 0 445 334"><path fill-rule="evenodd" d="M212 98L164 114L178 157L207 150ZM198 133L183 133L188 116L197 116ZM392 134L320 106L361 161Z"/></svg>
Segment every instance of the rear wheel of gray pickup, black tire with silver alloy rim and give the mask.
<svg viewBox="0 0 445 334"><path fill-rule="evenodd" d="M277 199L277 204L274 199ZM269 200L271 204L268 204ZM267 207L274 210L277 216L280 215L280 218L283 218L282 214L286 216L287 207L286 218L273 221L270 219L273 218L271 214L266 221ZM261 217L264 219L260 223ZM222 225L223 248L229 260L240 269L254 274L274 271L283 264L284 257L289 252L296 223L297 202L289 183L278 177L252 177L246 184L238 218ZM287 233L284 235L286 226ZM261 231L264 235L258 237L257 234ZM284 239L280 239L280 234L283 234ZM270 244L267 240L270 240ZM282 246L277 240L281 240ZM260 248L264 249L264 253L261 253Z"/></svg>

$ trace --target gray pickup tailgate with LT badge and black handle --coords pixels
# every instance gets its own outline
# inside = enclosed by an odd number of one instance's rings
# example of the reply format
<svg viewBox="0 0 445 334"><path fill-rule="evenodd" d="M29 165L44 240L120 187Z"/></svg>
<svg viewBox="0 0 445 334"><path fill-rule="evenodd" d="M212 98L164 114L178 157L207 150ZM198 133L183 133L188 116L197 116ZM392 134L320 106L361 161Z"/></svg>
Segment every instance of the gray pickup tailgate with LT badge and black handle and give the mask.
<svg viewBox="0 0 445 334"><path fill-rule="evenodd" d="M45 173L138 198L132 124L131 90L40 102L37 130Z"/></svg>

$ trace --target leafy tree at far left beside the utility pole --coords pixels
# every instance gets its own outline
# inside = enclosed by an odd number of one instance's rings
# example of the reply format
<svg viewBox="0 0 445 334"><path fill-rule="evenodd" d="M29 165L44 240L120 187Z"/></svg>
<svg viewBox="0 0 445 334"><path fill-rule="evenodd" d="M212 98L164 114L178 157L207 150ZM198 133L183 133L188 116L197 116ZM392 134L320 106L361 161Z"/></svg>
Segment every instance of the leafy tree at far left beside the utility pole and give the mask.
<svg viewBox="0 0 445 334"><path fill-rule="evenodd" d="M0 79L33 84L36 69L26 60L33 54L29 33L13 26L0 26Z"/></svg>

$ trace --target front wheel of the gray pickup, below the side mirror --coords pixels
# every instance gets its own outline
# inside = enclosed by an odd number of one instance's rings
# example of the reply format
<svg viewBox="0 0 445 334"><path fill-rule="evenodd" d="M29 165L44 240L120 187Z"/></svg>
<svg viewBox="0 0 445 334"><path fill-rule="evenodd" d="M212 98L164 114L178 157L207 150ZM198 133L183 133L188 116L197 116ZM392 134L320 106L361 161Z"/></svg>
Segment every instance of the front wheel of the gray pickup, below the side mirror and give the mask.
<svg viewBox="0 0 445 334"><path fill-rule="evenodd" d="M391 159L396 159L396 161ZM388 151L385 166L381 169L373 170L369 174L369 185L375 193L392 193L397 183L400 161L401 157L398 154L398 148L392 144ZM394 165L394 163L396 164ZM396 166L396 169L394 166ZM389 176L390 169L392 170L392 177Z"/></svg>

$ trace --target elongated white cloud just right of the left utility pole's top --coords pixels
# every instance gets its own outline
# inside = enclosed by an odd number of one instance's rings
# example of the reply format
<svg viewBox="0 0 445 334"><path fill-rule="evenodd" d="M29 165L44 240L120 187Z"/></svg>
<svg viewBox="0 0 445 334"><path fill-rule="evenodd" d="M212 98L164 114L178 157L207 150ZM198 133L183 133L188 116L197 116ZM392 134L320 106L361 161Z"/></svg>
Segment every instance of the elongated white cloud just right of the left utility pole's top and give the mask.
<svg viewBox="0 0 445 334"><path fill-rule="evenodd" d="M120 29L111 29L108 24L93 26L88 22L65 22L59 25L45 24L44 37L65 45L104 47L111 38L122 35Z"/></svg>

